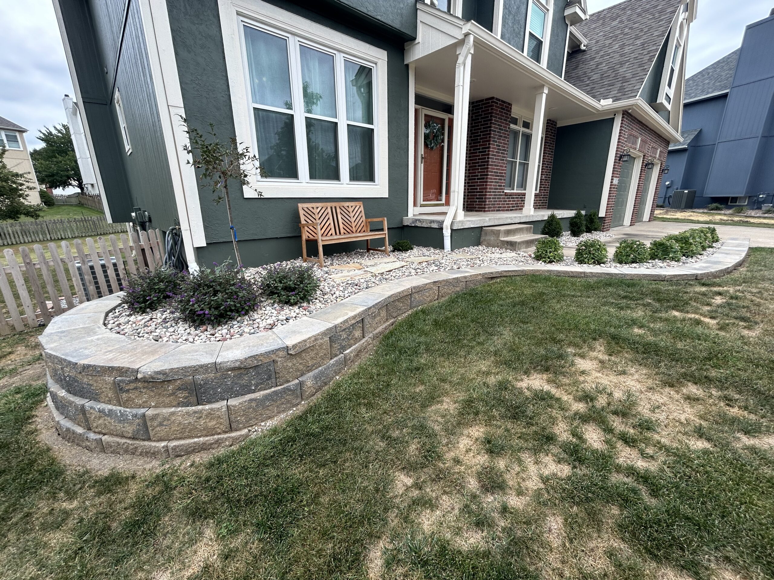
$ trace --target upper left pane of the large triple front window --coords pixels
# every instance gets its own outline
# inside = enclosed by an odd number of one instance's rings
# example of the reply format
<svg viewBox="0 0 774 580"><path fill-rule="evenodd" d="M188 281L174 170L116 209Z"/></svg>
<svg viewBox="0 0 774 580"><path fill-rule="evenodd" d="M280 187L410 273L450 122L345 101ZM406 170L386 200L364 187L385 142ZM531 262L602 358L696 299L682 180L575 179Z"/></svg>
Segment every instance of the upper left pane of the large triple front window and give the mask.
<svg viewBox="0 0 774 580"><path fill-rule="evenodd" d="M252 102L293 109L286 39L245 26Z"/></svg>

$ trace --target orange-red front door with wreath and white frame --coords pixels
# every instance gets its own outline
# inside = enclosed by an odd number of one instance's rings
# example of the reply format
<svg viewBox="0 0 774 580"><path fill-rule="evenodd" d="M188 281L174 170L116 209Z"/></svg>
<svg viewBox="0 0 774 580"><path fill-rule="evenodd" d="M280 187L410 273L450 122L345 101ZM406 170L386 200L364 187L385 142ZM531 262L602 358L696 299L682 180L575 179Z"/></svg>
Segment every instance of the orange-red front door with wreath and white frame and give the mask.
<svg viewBox="0 0 774 580"><path fill-rule="evenodd" d="M420 206L444 206L448 203L448 148L450 118L436 111L420 111L417 127L420 141L418 197Z"/></svg>

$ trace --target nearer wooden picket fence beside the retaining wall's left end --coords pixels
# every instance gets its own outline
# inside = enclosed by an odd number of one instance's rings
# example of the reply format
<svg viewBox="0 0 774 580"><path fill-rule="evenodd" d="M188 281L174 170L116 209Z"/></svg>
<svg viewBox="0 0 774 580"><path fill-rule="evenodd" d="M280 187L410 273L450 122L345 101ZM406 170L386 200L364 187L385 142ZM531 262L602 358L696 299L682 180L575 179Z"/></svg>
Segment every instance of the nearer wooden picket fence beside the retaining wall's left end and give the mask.
<svg viewBox="0 0 774 580"><path fill-rule="evenodd" d="M0 268L5 302L0 303L0 335L48 324L78 304L120 292L128 275L155 270L164 261L160 230L121 234L120 243L115 235L96 241L87 237L85 246L80 240L63 241L61 248L50 243L51 259L40 244L32 251L22 246L21 263L10 248L3 252L8 265Z"/></svg>

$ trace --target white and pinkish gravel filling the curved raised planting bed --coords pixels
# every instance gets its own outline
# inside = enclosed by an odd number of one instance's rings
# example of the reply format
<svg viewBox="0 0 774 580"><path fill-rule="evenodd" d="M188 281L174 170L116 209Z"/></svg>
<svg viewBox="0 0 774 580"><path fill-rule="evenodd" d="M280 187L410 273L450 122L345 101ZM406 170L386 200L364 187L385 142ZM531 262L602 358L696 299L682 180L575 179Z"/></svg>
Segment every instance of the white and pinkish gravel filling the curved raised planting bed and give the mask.
<svg viewBox="0 0 774 580"><path fill-rule="evenodd" d="M585 234L594 236L596 234ZM609 237L609 236L608 236ZM578 240L578 238L574 238ZM604 239L595 237L594 239ZM561 240L563 244L566 240ZM691 264L714 254L722 243L715 244L704 254L696 258L683 258L679 262L650 261L646 264L629 264L628 268L663 268L680 264ZM612 257L612 256L611 256ZM302 264L300 259L284 264ZM146 314L134 314L125 306L119 306L108 314L105 326L112 332L139 339L151 339L168 343L206 343L217 342L259 333L282 326L295 319L308 316L312 312L339 302L348 296L385 281L408 278L409 276L429 274L430 272L470 268L482 265L541 264L531 254L522 251L510 251L501 248L474 246L445 253L434 247L415 247L407 252L392 252L389 257L383 254L366 254L354 251L346 254L326 256L325 268L310 263L307 267L320 279L317 295L307 304L289 306L263 300L255 311L220 326L193 326L180 318L171 308L158 309ZM565 258L563 265L575 265L572 258ZM608 264L600 268L615 268L621 264ZM248 268L249 278L256 281L262 278L267 266Z"/></svg>

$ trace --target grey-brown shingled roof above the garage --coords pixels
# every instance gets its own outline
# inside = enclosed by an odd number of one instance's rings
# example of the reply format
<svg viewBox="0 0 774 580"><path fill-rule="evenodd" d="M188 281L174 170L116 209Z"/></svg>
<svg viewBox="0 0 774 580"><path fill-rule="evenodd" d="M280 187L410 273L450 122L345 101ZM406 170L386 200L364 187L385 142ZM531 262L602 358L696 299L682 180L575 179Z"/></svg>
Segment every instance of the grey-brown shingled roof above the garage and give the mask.
<svg viewBox="0 0 774 580"><path fill-rule="evenodd" d="M637 97L680 0L625 0L575 28L588 49L567 55L564 79L598 101Z"/></svg>

